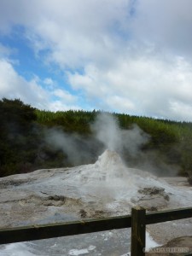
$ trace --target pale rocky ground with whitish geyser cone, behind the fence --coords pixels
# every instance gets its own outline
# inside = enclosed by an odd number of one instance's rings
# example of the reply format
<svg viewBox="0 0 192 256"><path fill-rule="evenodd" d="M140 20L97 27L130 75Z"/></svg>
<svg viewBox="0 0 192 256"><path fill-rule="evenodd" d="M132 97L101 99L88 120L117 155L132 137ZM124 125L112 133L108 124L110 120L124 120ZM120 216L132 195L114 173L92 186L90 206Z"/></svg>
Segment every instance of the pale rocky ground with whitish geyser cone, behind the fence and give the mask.
<svg viewBox="0 0 192 256"><path fill-rule="evenodd" d="M186 178L158 178L128 168L118 154L107 150L94 165L0 178L0 226L125 215L137 205L148 212L190 207L191 195ZM190 244L192 218L148 225L147 230L159 245L179 236L185 238L173 240L178 245L183 241ZM111 230L1 246L0 255L120 256L129 250L130 230Z"/></svg>

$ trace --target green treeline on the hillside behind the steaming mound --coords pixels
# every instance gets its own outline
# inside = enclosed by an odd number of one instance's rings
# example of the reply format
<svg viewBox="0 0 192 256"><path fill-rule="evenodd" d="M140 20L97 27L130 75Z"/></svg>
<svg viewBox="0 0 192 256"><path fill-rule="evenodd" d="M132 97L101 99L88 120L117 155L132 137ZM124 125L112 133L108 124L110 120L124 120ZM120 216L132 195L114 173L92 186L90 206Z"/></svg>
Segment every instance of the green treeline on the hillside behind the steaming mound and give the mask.
<svg viewBox="0 0 192 256"><path fill-rule="evenodd" d="M53 113L32 108L18 99L4 98L0 101L0 176L94 162L103 150L102 143L90 129L98 113L73 110ZM129 130L137 124L149 135L148 143L142 145L139 154L123 153L129 166L158 170L161 175L172 174L173 169L177 174L191 172L192 123L112 114L121 129ZM54 138L51 143L47 139L53 129L64 132L66 137L73 134L79 154L83 151L87 157L75 161L65 150L56 148ZM63 148L70 147L71 142Z"/></svg>

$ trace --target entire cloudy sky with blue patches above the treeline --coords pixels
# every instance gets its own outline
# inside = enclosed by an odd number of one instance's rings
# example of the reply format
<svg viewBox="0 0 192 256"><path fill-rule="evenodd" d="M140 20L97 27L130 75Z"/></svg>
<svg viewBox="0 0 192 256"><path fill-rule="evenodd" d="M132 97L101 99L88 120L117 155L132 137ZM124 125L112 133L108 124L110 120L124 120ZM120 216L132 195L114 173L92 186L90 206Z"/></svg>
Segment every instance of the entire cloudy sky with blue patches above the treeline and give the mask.
<svg viewBox="0 0 192 256"><path fill-rule="evenodd" d="M192 121L191 0L0 0L0 98Z"/></svg>

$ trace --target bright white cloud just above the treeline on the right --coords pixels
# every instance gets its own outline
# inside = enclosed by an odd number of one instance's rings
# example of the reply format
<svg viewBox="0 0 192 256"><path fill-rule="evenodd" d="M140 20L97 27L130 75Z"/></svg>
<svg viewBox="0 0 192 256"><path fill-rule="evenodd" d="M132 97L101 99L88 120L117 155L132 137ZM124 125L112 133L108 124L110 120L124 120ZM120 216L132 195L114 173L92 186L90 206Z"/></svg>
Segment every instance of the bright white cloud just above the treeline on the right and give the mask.
<svg viewBox="0 0 192 256"><path fill-rule="evenodd" d="M69 81L73 88L83 88L86 98L99 98L104 109L166 119L192 118L185 113L192 107L192 65L181 58L167 62L157 56L127 58L108 73L93 70L70 74Z"/></svg>

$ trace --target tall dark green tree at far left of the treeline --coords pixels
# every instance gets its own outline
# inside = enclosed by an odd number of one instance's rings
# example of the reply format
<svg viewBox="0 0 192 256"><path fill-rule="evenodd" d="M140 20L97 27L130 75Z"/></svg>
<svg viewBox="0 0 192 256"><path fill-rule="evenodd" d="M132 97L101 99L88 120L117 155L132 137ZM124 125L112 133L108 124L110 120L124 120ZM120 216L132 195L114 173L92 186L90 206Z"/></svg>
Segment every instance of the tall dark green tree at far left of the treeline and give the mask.
<svg viewBox="0 0 192 256"><path fill-rule="evenodd" d="M0 101L0 176L30 169L35 147L35 108L19 99Z"/></svg>

